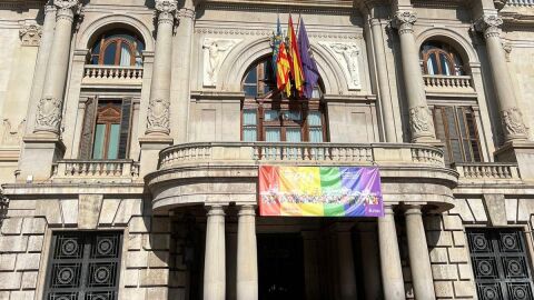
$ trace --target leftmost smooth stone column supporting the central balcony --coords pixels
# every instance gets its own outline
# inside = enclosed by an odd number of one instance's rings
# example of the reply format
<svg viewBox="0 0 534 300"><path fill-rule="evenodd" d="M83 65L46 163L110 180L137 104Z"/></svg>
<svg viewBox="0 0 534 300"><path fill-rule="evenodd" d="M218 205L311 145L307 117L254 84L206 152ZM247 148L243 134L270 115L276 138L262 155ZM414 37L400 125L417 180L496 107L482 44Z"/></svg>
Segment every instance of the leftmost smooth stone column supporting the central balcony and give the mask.
<svg viewBox="0 0 534 300"><path fill-rule="evenodd" d="M206 257L204 260L204 299L226 298L225 211L221 206L208 208Z"/></svg>

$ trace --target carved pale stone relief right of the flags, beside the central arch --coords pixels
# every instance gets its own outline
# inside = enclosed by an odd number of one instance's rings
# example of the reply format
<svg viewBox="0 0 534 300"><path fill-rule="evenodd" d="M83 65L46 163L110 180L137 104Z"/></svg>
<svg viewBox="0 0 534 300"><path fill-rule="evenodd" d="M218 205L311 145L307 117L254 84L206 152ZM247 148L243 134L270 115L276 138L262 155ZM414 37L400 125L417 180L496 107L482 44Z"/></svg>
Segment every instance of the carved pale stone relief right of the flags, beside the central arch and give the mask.
<svg viewBox="0 0 534 300"><path fill-rule="evenodd" d="M359 79L359 54L360 50L356 43L348 42L326 42L319 41L330 54L339 62L343 72L347 79L349 90L359 90L362 82Z"/></svg>

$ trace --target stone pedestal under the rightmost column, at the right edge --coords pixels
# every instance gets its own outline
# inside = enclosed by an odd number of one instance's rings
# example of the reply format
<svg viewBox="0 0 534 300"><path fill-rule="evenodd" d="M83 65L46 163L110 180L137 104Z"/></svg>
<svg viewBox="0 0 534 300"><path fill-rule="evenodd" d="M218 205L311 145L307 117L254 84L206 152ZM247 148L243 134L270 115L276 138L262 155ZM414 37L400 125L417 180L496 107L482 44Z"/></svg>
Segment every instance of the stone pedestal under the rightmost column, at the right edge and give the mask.
<svg viewBox="0 0 534 300"><path fill-rule="evenodd" d="M532 141L508 141L494 153L500 162L517 162L521 179L534 181L534 142Z"/></svg>

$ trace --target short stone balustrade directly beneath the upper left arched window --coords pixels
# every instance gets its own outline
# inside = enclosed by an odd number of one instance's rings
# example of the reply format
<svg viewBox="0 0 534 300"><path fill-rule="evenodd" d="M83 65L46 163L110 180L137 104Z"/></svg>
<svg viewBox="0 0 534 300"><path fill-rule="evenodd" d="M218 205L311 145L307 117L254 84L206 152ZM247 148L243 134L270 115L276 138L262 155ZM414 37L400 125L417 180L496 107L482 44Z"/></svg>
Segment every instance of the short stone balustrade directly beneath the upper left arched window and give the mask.
<svg viewBox="0 0 534 300"><path fill-rule="evenodd" d="M86 66L83 83L86 84L141 84L142 67Z"/></svg>

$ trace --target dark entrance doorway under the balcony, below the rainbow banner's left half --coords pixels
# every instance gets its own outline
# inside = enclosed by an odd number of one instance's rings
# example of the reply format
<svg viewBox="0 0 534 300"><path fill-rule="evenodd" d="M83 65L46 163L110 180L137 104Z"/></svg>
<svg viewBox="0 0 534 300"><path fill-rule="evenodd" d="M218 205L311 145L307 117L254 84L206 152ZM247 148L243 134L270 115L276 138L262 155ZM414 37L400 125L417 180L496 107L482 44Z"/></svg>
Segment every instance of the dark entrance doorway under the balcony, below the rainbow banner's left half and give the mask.
<svg viewBox="0 0 534 300"><path fill-rule="evenodd" d="M299 233L258 234L259 300L301 299L304 252Z"/></svg>

